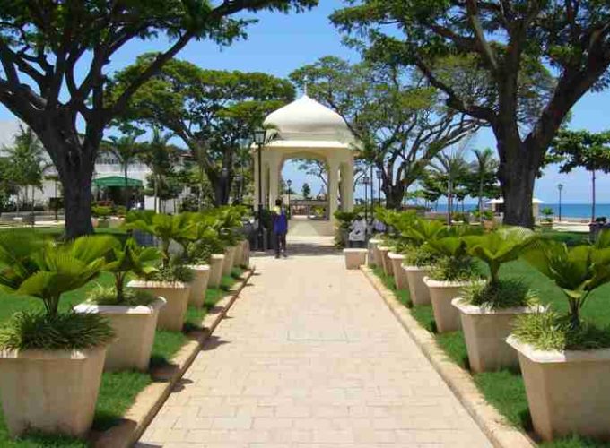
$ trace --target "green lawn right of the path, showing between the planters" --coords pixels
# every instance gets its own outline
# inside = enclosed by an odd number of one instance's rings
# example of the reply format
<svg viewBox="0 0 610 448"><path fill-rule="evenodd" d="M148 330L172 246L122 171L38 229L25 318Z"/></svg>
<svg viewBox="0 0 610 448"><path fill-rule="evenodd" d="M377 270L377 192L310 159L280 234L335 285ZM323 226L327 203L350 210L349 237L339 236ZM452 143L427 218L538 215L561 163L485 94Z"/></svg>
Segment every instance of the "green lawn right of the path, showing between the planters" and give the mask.
<svg viewBox="0 0 610 448"><path fill-rule="evenodd" d="M580 241L583 234L549 232L548 236L553 237L553 239L561 239L566 244L575 244L577 241ZM376 268L374 272L384 284L387 286L389 284L390 289L395 291L396 294L392 278L384 275L383 271L379 268ZM501 268L501 276L504 278L518 277L527 280L531 288L536 290L543 304L550 304L553 309L558 311L564 312L567 310L567 302L560 289L555 287L551 280L546 279L545 276L531 268L527 263L522 261L507 263ZM396 296L401 303L411 306L408 291L398 291ZM601 325L610 324L610 306L607 306L606 302L608 296L610 296L610 285L597 289L597 291L591 294L588 298L588 304L583 310L583 317ZM411 314L423 328L429 332L434 332L434 337L440 347L453 362L468 368L466 343L462 332L437 334L435 332L431 306L414 306L411 309ZM510 424L527 431L531 430L532 425L527 409L525 387L518 369L516 371L501 370L499 372L475 374L473 378L486 400L495 406L507 418ZM541 444L541 446L545 448L600 448L610 447L610 444L573 437L554 441L553 443Z"/></svg>

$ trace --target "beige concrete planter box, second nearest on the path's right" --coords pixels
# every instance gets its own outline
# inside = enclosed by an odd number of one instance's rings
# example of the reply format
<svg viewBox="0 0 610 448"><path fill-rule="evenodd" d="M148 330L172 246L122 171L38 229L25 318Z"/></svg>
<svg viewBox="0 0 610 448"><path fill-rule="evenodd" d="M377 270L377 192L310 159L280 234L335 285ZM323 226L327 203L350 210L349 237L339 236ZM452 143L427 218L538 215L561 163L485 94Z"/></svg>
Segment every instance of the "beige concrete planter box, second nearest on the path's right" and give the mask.
<svg viewBox="0 0 610 448"><path fill-rule="evenodd" d="M515 318L545 309L543 306L488 309L464 303L461 298L454 298L451 304L459 311L470 368L477 373L518 366L517 352L506 343Z"/></svg>

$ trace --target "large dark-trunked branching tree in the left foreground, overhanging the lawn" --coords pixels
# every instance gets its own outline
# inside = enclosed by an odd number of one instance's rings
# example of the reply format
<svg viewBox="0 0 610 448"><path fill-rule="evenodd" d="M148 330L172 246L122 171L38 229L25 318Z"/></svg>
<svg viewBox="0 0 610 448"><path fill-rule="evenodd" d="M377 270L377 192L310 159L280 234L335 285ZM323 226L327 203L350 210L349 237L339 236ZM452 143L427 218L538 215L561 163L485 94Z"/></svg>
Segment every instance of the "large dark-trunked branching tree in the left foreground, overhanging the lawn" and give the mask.
<svg viewBox="0 0 610 448"><path fill-rule="evenodd" d="M104 128L134 92L191 39L245 36L244 13L289 12L317 0L33 2L0 0L0 101L39 136L64 186L66 234L92 232L92 174ZM240 13L239 18L232 18ZM167 49L122 93L105 94L107 65L127 43L164 37Z"/></svg>

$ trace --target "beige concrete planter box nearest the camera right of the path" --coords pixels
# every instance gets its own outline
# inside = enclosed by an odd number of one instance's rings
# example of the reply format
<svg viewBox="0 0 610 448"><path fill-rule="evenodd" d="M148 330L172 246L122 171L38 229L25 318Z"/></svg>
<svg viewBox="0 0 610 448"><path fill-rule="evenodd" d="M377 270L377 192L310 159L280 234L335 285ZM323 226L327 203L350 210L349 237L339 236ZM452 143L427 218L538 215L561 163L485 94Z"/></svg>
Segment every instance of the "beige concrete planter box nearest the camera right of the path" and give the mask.
<svg viewBox="0 0 610 448"><path fill-rule="evenodd" d="M518 352L537 435L610 438L610 349L543 351L506 341Z"/></svg>

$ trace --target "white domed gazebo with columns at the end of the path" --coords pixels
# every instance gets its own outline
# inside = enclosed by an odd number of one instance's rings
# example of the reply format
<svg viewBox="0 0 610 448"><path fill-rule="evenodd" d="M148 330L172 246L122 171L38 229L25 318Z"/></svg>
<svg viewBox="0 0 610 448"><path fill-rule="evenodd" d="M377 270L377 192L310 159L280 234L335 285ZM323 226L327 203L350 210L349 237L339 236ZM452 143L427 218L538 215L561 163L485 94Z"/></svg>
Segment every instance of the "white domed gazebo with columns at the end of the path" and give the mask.
<svg viewBox="0 0 610 448"><path fill-rule="evenodd" d="M266 117L264 125L271 134L262 148L263 204L273 207L281 197L280 180L288 159L318 159L328 172L327 219L291 220L289 234L295 236L333 236L334 213L353 210L353 151L356 139L342 116L310 99L307 95L279 108ZM257 147L255 160L255 203L258 203Z"/></svg>

